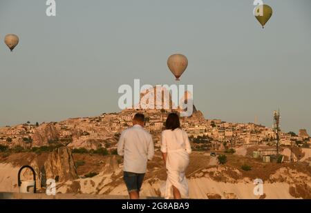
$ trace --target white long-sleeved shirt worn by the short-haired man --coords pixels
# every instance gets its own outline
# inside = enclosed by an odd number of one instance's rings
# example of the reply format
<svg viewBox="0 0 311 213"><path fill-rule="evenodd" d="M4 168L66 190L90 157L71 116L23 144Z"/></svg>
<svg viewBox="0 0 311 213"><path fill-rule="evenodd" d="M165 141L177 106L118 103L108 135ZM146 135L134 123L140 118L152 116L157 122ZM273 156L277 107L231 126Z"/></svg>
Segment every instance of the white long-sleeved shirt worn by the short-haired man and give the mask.
<svg viewBox="0 0 311 213"><path fill-rule="evenodd" d="M154 154L151 134L141 125L124 130L117 143L117 154L124 156L125 172L146 173L147 161Z"/></svg>

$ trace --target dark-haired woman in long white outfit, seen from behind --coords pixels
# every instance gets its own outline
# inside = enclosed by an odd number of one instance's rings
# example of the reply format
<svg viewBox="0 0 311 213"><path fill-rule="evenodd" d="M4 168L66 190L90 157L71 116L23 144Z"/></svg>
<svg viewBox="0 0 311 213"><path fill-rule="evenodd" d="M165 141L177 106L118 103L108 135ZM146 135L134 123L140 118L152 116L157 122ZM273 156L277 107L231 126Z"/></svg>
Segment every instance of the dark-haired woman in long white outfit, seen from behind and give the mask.
<svg viewBox="0 0 311 213"><path fill-rule="evenodd" d="M167 168L164 198L187 198L189 190L185 172L191 153L188 135L180 128L179 116L176 113L169 114L165 122L165 129L161 139L161 152Z"/></svg>

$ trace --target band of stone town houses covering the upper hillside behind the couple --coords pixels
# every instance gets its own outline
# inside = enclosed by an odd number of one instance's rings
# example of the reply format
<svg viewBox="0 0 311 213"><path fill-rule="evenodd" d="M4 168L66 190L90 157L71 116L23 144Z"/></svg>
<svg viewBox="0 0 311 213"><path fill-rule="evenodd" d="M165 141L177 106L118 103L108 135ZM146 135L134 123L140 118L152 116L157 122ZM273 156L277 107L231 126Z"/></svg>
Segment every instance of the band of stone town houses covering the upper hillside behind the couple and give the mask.
<svg viewBox="0 0 311 213"><path fill-rule="evenodd" d="M116 147L120 133L132 125L133 115L137 112L145 114L145 128L153 135L155 146L159 148L164 121L171 110L123 110L119 113L104 113L100 116L54 123L32 124L28 121L13 127L1 127L0 144L10 148L32 148L62 143L70 148L110 150ZM241 145L273 146L276 141L273 128L255 123L205 119L202 112L196 109L192 116L182 117L180 121L195 150L222 150ZM311 139L306 130L299 130L299 134L280 133L281 146L309 148L310 143Z"/></svg>

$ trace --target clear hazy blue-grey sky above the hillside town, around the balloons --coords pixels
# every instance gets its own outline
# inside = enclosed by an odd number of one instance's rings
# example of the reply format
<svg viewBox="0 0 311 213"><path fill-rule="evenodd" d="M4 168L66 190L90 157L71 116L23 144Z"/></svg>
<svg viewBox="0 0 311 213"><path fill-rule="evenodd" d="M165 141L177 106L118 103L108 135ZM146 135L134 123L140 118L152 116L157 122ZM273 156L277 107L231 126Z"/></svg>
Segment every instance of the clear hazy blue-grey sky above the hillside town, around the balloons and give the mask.
<svg viewBox="0 0 311 213"><path fill-rule="evenodd" d="M311 1L266 0L274 15L261 29L252 0L1 0L0 125L61 121L120 111L122 83L172 84L167 57L189 59L207 119L311 133Z"/></svg>

